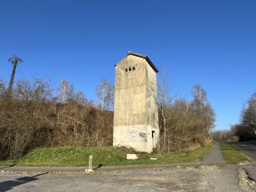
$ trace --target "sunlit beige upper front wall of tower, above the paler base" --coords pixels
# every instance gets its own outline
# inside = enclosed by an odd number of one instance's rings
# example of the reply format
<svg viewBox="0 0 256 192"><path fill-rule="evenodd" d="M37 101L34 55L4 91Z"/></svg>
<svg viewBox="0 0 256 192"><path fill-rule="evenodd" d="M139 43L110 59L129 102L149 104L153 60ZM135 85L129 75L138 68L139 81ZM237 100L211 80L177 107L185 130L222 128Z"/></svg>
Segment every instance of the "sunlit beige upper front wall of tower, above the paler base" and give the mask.
<svg viewBox="0 0 256 192"><path fill-rule="evenodd" d="M137 66L124 73L127 67ZM129 55L116 66L114 126L146 122L146 63Z"/></svg>

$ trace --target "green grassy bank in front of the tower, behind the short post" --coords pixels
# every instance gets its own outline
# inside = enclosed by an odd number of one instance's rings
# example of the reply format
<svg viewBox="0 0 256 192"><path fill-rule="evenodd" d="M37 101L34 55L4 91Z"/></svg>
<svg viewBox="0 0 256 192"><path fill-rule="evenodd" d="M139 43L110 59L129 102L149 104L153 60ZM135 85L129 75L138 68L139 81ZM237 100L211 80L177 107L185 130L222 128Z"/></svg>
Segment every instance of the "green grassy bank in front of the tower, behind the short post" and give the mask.
<svg viewBox="0 0 256 192"><path fill-rule="evenodd" d="M17 160L0 161L0 166L88 166L89 155L93 155L93 166L201 162L213 144L211 142L194 151L184 150L171 155L141 153L135 160L127 160L125 151L115 147L45 147L37 148ZM157 160L149 159L151 157Z"/></svg>

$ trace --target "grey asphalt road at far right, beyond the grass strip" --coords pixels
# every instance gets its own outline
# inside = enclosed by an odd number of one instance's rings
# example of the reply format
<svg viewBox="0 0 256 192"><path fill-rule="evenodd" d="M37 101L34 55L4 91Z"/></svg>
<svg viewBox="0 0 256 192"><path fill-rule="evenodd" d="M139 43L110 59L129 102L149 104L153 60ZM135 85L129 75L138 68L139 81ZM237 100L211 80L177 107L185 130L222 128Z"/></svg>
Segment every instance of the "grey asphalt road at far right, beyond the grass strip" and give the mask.
<svg viewBox="0 0 256 192"><path fill-rule="evenodd" d="M256 142L233 142L232 144L256 160Z"/></svg>

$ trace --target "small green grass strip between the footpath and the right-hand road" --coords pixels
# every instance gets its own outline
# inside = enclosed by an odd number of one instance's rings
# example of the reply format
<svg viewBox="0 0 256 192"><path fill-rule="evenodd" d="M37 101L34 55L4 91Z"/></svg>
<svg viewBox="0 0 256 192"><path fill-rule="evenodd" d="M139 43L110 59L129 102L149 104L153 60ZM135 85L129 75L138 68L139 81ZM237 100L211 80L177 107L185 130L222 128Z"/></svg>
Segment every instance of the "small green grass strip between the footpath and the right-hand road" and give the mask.
<svg viewBox="0 0 256 192"><path fill-rule="evenodd" d="M230 143L221 142L220 145L223 157L228 164L239 164L247 160L242 151L235 148Z"/></svg>

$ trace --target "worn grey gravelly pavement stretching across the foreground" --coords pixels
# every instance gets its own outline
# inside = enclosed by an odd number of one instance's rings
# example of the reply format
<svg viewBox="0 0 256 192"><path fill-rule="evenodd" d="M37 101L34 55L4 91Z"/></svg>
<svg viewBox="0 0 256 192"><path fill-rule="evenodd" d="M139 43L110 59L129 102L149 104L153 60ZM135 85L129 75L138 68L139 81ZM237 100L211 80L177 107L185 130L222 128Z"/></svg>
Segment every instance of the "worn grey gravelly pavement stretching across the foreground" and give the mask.
<svg viewBox="0 0 256 192"><path fill-rule="evenodd" d="M92 174L1 172L0 191L253 191L239 165L118 170ZM240 186L240 187L239 187Z"/></svg>

